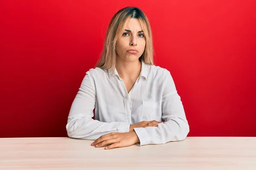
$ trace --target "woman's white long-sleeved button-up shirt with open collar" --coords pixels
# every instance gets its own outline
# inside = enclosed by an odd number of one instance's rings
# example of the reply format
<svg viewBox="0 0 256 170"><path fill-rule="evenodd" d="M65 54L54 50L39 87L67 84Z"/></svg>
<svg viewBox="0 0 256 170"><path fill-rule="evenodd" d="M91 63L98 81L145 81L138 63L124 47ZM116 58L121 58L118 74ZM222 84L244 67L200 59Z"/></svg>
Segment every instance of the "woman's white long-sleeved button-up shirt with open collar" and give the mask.
<svg viewBox="0 0 256 170"><path fill-rule="evenodd" d="M71 138L96 140L111 132L129 132L130 124L144 120L164 123L134 128L139 146L180 141L189 133L170 72L142 62L140 76L129 93L116 69L87 71L70 108L66 129Z"/></svg>

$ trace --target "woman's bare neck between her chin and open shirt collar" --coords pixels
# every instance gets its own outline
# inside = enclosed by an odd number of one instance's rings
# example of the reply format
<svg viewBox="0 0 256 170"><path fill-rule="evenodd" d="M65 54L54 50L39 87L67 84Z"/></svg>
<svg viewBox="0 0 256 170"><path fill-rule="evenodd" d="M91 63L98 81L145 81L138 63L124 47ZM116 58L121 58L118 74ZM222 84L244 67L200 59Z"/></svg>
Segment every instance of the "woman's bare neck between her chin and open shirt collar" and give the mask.
<svg viewBox="0 0 256 170"><path fill-rule="evenodd" d="M142 63L138 59L134 62L116 60L116 71L122 79L134 79L139 77Z"/></svg>

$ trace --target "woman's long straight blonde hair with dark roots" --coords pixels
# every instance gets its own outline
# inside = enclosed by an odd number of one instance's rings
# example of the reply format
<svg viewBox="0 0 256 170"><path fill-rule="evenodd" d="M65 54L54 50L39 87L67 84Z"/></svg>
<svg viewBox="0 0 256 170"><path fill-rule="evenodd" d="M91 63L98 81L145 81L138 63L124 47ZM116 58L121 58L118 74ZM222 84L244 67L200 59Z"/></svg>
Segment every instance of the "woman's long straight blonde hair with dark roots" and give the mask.
<svg viewBox="0 0 256 170"><path fill-rule="evenodd" d="M140 61L144 61L146 64L154 65L154 49L151 26L148 18L145 16L143 11L137 7L125 7L116 12L112 17L111 22L108 26L107 34L105 37L104 48L101 53L95 67L102 69L111 69L112 71L116 67L116 41L122 36L124 31L125 22L127 19L136 18L139 19L140 25L142 26L146 45L143 54L140 56Z"/></svg>

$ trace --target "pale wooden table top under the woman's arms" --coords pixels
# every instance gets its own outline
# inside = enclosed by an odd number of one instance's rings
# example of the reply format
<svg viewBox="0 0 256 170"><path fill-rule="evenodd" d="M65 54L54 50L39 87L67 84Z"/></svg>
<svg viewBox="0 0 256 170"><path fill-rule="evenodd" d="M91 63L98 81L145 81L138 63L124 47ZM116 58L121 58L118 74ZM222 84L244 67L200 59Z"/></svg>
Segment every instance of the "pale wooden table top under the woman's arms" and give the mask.
<svg viewBox="0 0 256 170"><path fill-rule="evenodd" d="M111 150L92 142L0 138L0 170L256 170L256 137L187 137Z"/></svg>

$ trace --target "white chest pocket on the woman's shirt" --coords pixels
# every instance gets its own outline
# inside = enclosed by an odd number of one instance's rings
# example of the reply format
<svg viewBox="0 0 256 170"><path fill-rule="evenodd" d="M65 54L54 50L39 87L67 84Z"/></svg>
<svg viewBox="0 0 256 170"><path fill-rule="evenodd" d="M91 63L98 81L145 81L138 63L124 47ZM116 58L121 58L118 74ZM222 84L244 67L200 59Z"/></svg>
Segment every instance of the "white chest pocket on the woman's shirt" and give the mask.
<svg viewBox="0 0 256 170"><path fill-rule="evenodd" d="M142 101L141 121L161 121L162 116L162 100Z"/></svg>

